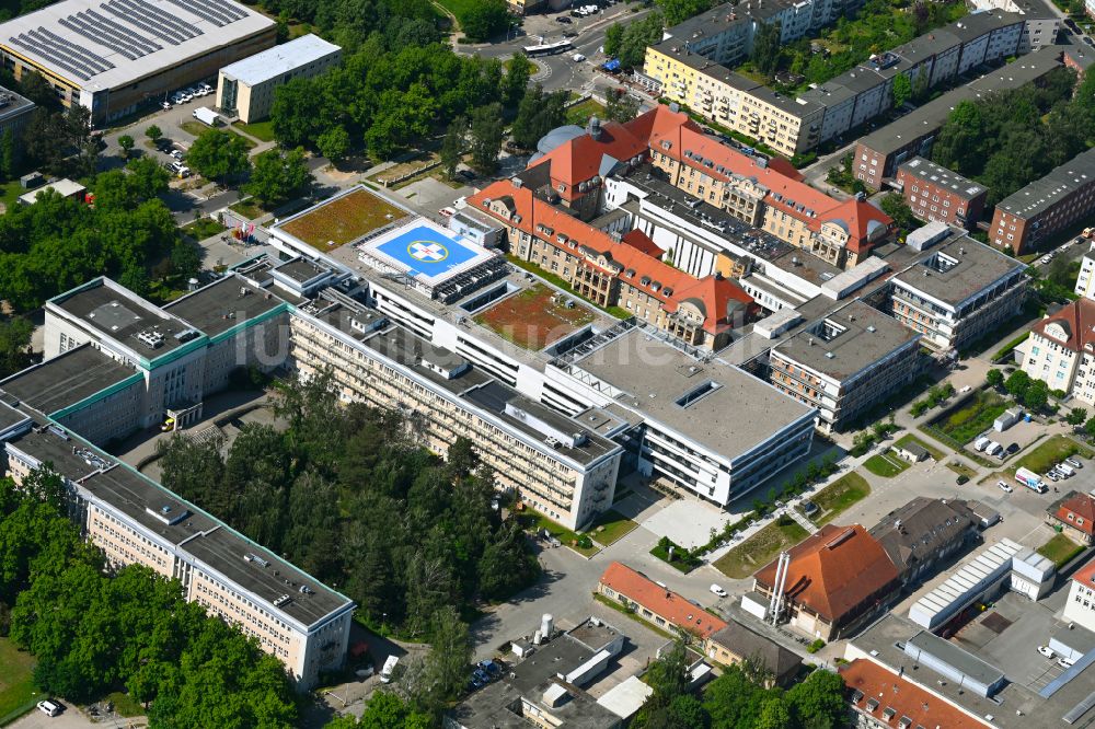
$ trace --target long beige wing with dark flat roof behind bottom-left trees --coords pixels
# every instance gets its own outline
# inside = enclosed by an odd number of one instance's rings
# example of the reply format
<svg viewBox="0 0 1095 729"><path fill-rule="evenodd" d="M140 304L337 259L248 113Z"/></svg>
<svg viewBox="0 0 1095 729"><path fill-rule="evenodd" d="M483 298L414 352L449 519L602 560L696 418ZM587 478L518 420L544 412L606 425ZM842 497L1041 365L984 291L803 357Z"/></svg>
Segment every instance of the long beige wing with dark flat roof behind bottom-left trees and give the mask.
<svg viewBox="0 0 1095 729"><path fill-rule="evenodd" d="M59 394L80 379L58 378L51 386ZM0 395L12 397L5 385ZM350 600L22 402L20 409L33 420L4 436L4 470L16 483L43 466L64 476L76 519L110 564L143 565L177 579L186 600L253 636L285 663L300 691L314 686L321 671L342 667Z"/></svg>

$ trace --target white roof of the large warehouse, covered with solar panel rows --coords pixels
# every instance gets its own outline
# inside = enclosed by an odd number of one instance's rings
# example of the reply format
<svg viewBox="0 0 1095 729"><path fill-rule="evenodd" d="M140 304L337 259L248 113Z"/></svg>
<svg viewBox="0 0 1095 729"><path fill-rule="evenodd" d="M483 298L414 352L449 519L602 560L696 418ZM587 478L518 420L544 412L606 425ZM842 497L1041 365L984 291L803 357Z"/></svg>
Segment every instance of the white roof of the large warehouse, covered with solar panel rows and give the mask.
<svg viewBox="0 0 1095 729"><path fill-rule="evenodd" d="M97 91L181 66L273 25L231 0L65 0L0 25L0 47Z"/></svg>

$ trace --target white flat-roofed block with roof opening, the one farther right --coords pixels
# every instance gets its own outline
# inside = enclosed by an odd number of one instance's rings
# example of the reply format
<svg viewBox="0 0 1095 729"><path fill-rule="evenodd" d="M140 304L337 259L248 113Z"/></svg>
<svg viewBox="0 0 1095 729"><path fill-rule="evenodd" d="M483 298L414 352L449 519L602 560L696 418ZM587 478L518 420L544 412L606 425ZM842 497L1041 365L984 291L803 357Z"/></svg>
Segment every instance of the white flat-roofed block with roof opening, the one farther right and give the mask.
<svg viewBox="0 0 1095 729"><path fill-rule="evenodd" d="M890 310L923 335L924 345L960 351L1018 313L1024 269L1021 261L961 235L890 279Z"/></svg>

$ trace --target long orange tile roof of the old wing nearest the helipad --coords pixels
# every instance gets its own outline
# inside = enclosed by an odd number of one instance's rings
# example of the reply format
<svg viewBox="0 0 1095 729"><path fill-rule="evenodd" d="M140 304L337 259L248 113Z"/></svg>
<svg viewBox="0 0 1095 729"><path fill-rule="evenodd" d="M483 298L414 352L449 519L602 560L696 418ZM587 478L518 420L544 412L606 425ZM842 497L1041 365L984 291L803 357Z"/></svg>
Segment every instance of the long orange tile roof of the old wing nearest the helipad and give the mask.
<svg viewBox="0 0 1095 729"><path fill-rule="evenodd" d="M712 334L723 332L733 325L727 316L731 301L740 302L746 308L753 305L752 297L733 280L719 276L698 279L635 247L633 241L637 239L633 238L629 242L616 241L604 231L578 220L544 200L537 199L528 187L515 187L510 181L499 181L469 197L468 204L489 215L491 211L484 206L487 200L505 200L507 207L520 217L520 221L517 222L510 219L509 224L550 241L556 247L568 250L579 257L580 246L606 254L606 257L623 267L619 274L621 280L660 301L669 313L676 312L679 304L685 300L700 302L699 308L705 314L703 328ZM543 232L543 228L550 229L551 234ZM566 244L558 243L561 233L566 235ZM642 235L646 238L645 234ZM650 245L660 251L653 241ZM649 280L644 284L644 279ZM657 285L656 290L655 285Z"/></svg>

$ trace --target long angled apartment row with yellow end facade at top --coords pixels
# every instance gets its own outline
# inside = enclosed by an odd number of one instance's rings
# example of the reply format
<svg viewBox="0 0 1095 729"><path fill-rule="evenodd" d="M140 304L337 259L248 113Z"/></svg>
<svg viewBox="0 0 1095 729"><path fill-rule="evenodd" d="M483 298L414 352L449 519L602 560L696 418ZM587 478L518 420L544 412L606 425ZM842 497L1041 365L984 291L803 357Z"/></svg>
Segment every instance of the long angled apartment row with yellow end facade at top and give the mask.
<svg viewBox="0 0 1095 729"><path fill-rule="evenodd" d="M830 22L831 7L800 3L789 24L783 24L788 19L782 16L787 10L781 3L763 9L753 9L751 3L724 8L669 28L664 40L647 48L643 76L665 99L787 157L814 149L889 109L895 77L902 74L913 82L923 78L927 88L948 83L983 63L1019 53L1027 26L1041 22L1040 16L1015 12L975 13L873 56L792 99L725 65L748 54L760 23L779 20L786 43L819 27L815 23ZM758 13L763 18L757 18ZM748 18L756 20L746 22ZM1042 45L1041 31L1037 30L1035 40L1028 39L1023 53Z"/></svg>

